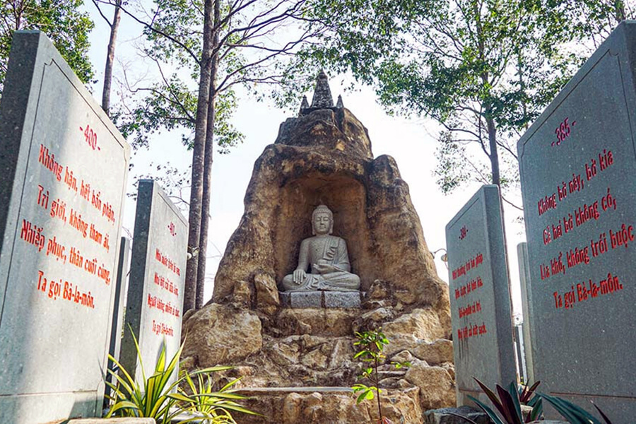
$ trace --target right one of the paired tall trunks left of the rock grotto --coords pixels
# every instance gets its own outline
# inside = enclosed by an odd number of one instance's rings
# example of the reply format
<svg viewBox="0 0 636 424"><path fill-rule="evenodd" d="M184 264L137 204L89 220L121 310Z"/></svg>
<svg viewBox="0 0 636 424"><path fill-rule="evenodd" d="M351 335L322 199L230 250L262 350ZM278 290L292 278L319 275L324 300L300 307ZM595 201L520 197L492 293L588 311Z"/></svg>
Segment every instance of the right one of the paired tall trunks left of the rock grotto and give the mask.
<svg viewBox="0 0 636 424"><path fill-rule="evenodd" d="M214 23L220 21L220 1L214 0ZM208 129L204 159L203 196L201 196L201 235L199 237L199 267L196 271L196 309L204 304L206 284L206 254L208 252L208 228L210 223L210 197L212 194L212 163L214 154L214 113L216 112L216 75L218 73L218 29L212 37L213 56L211 60L210 94L208 104Z"/></svg>

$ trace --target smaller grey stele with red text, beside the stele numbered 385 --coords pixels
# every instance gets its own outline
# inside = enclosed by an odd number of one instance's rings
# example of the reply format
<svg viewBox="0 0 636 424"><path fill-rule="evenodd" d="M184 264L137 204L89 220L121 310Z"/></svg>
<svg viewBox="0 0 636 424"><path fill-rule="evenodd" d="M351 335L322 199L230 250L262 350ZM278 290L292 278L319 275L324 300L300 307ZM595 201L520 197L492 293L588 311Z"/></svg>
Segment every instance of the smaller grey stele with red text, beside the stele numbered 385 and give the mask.
<svg viewBox="0 0 636 424"><path fill-rule="evenodd" d="M499 189L484 185L446 225L457 403L517 381Z"/></svg>

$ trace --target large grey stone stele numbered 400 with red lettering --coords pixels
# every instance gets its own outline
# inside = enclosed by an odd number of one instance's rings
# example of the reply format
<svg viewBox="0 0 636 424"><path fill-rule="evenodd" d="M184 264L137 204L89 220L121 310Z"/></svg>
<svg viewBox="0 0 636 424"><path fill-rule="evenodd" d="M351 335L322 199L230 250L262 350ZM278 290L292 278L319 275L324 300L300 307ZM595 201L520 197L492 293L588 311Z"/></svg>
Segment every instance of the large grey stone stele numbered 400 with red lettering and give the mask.
<svg viewBox="0 0 636 424"><path fill-rule="evenodd" d="M0 423L101 411L129 146L47 37L0 102Z"/></svg>

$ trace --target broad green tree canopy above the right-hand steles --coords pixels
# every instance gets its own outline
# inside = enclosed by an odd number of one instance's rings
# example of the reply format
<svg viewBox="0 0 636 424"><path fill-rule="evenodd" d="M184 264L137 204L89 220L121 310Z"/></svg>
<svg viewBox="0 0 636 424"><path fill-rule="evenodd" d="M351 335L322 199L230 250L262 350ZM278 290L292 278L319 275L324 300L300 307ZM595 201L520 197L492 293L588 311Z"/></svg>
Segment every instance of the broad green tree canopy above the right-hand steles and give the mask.
<svg viewBox="0 0 636 424"><path fill-rule="evenodd" d="M621 13L620 0L316 0L312 22L330 31L290 74L351 72L388 112L441 124L442 192L498 180L505 192L514 143Z"/></svg>

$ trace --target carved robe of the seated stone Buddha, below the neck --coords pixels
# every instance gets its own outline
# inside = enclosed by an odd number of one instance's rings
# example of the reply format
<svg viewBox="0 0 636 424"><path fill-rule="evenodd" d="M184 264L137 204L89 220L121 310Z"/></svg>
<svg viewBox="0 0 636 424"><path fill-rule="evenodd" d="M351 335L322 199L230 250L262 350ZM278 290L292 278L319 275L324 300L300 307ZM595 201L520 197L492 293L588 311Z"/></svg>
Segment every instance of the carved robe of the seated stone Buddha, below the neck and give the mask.
<svg viewBox="0 0 636 424"><path fill-rule="evenodd" d="M321 265L331 265L334 269L317 269ZM306 272L309 266L311 273L307 273L305 280L300 284L294 282L293 274L285 276L282 283L283 291L355 291L360 288L360 277L351 273L347 244L340 237L322 235L302 240L296 269Z"/></svg>

